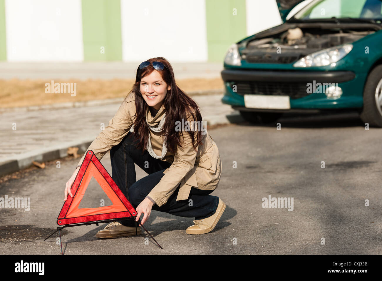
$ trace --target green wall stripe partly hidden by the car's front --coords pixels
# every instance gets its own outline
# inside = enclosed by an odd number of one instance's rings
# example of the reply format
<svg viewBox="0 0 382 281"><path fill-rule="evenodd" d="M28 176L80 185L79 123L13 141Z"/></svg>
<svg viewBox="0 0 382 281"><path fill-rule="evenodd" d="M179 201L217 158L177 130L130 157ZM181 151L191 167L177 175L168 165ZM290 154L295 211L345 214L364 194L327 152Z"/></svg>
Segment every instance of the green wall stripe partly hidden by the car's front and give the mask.
<svg viewBox="0 0 382 281"><path fill-rule="evenodd" d="M230 45L247 37L245 0L206 0L206 25L208 61L223 62Z"/></svg>

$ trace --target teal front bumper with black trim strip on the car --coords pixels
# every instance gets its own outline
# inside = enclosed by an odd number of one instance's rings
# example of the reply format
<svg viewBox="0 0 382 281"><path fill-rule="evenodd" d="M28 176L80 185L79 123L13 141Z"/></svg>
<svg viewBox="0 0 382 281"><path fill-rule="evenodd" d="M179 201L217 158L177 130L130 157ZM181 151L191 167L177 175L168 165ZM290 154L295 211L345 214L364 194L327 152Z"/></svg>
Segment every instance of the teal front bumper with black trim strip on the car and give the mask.
<svg viewBox="0 0 382 281"><path fill-rule="evenodd" d="M290 110L247 109L268 112L296 111L293 109L345 109L362 107L363 87L367 76L366 73L355 74L353 71L249 69L225 69L221 72L221 75L225 84L225 94L222 102L235 106L238 109L245 106L244 94L290 96ZM308 83L336 83L337 86L342 88L343 94L340 98L330 99L319 91L308 93Z"/></svg>

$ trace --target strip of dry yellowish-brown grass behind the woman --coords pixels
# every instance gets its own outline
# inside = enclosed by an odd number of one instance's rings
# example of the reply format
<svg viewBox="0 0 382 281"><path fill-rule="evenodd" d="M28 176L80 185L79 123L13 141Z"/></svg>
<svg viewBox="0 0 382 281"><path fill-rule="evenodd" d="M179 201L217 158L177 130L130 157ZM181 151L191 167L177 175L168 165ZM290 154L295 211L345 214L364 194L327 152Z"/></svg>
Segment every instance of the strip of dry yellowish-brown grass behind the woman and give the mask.
<svg viewBox="0 0 382 281"><path fill-rule="evenodd" d="M0 107L37 106L43 104L90 101L125 97L131 90L133 79L113 80L54 80L54 83L77 83L76 96L70 93L45 93L45 83L50 80L0 80ZM221 78L177 80L186 93L201 90L223 89Z"/></svg>

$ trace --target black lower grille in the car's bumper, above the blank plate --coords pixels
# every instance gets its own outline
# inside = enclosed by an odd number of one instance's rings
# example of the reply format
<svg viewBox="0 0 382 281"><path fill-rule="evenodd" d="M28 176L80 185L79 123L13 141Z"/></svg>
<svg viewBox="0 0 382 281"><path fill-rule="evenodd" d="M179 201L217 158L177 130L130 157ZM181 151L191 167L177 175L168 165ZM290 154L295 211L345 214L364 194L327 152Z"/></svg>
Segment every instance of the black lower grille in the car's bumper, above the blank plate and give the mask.
<svg viewBox="0 0 382 281"><path fill-rule="evenodd" d="M236 85L236 93L244 94L262 94L289 96L291 99L299 99L310 95L307 93L306 83L288 83L288 82L245 82L231 83L231 88Z"/></svg>

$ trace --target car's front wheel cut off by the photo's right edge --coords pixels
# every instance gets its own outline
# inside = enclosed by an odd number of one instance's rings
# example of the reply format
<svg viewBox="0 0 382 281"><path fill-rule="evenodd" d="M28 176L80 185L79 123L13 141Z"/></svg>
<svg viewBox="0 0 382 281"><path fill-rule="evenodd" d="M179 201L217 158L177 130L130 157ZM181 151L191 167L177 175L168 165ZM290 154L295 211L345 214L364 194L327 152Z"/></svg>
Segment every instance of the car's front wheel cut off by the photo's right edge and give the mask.
<svg viewBox="0 0 382 281"><path fill-rule="evenodd" d="M360 117L371 127L382 127L382 65L375 67L367 76Z"/></svg>

